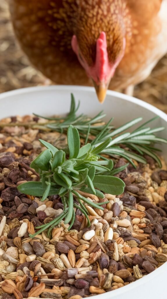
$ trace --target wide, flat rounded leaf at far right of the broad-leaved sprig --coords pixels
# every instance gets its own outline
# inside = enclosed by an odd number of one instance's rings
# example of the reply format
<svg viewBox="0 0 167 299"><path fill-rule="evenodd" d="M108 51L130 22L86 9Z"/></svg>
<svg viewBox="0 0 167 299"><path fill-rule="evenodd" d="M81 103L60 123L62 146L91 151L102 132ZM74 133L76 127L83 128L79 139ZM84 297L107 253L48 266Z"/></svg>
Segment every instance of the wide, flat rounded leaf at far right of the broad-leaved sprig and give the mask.
<svg viewBox="0 0 167 299"><path fill-rule="evenodd" d="M113 195L122 194L125 187L125 183L115 176L95 176L93 185L95 188Z"/></svg>

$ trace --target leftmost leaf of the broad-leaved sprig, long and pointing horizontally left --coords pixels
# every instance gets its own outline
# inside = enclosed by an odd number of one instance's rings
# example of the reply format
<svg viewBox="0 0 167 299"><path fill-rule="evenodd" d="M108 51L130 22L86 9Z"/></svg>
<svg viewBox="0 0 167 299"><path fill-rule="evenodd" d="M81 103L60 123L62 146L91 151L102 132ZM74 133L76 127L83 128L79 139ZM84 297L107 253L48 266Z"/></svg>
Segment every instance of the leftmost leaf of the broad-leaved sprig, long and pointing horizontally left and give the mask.
<svg viewBox="0 0 167 299"><path fill-rule="evenodd" d="M19 185L17 188L21 193L33 195L33 196L43 196L46 191L46 186L43 186L42 182L26 182ZM60 188L56 188L54 186L50 187L49 195L59 194Z"/></svg>

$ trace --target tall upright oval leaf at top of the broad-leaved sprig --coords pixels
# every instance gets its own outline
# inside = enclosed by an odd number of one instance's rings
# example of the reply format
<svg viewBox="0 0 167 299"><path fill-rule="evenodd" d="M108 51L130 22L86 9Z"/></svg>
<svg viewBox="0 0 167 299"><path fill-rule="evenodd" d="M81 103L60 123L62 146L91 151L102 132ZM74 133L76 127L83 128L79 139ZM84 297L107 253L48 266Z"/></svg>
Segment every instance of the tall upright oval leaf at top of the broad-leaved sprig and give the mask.
<svg viewBox="0 0 167 299"><path fill-rule="evenodd" d="M67 141L69 148L69 158L77 158L80 149L80 138L78 130L74 128L72 125L68 127Z"/></svg>

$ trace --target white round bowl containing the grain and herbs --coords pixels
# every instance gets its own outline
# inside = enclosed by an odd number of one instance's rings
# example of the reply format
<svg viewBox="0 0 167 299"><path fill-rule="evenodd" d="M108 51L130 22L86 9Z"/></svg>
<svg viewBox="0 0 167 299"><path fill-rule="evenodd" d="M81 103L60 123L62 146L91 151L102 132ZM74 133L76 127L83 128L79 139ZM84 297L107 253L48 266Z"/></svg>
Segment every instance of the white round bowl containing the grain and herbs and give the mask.
<svg viewBox="0 0 167 299"><path fill-rule="evenodd" d="M82 86L49 86L18 89L0 94L0 119L12 115L26 115L37 113L40 115L64 114L69 111L70 93L74 94L76 101L80 100L79 112L90 116L96 115L101 110L107 114L106 120L114 117L113 124L120 126L136 117L143 117L143 121L158 115L150 126L164 126L167 129L167 115L159 109L115 91L107 91L103 105L98 103L92 87ZM161 137L166 137L166 131L161 132ZM164 145L161 146L163 155L167 158ZM160 268L130 283L120 289L93 296L92 299L166 299L166 273L167 263Z"/></svg>

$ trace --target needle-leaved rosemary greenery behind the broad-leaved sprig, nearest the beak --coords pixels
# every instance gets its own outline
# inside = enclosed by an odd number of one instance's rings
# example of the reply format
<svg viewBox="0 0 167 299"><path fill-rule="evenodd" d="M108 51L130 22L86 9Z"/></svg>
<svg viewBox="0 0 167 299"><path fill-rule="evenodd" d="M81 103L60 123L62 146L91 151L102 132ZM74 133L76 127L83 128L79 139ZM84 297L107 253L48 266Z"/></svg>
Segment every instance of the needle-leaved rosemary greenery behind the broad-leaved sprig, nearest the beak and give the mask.
<svg viewBox="0 0 167 299"><path fill-rule="evenodd" d="M155 135L157 132L161 132L165 127L155 127L151 129L147 125L155 121L158 116L146 121L141 124L137 129L132 130L133 126L142 121L142 117L135 118L126 124L114 128L111 126L113 117L104 124L104 114L103 111L99 112L95 117L89 118L87 115L81 114L77 116L77 111L79 109L79 103L76 106L73 94L71 94L71 107L70 112L64 118L47 118L40 115L38 117L45 118L51 123L46 123L40 126L40 129L51 129L57 132L67 132L68 126L72 124L78 129L79 135L85 138L85 144L90 141L91 145L101 144L104 140L111 137L112 141L110 144L103 149L102 153L107 154L113 158L123 157L129 161L134 168L136 168L133 160L146 164L146 159L144 155L151 156L157 163L159 167L162 167L161 161L156 154L160 149L155 147L155 144L165 143L167 144L167 139L160 138ZM127 130L132 132L127 132ZM126 147L129 149L127 150Z"/></svg>

